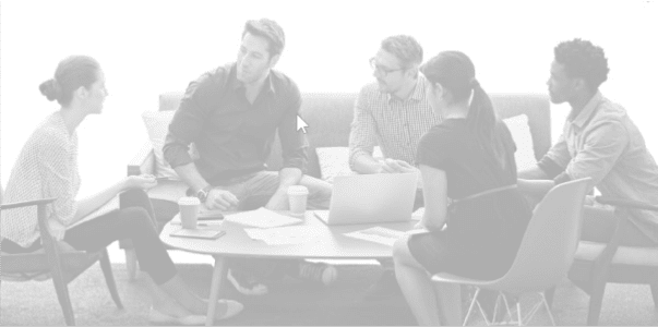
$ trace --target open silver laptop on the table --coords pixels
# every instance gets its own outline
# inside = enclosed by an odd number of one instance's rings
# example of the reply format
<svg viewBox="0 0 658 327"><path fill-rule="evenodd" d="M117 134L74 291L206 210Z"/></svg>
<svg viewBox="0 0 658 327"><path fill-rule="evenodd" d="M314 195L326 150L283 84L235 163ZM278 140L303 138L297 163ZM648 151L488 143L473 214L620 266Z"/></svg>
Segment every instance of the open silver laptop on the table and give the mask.
<svg viewBox="0 0 658 327"><path fill-rule="evenodd" d="M336 177L330 209L314 214L326 225L409 221L417 180L416 173Z"/></svg>

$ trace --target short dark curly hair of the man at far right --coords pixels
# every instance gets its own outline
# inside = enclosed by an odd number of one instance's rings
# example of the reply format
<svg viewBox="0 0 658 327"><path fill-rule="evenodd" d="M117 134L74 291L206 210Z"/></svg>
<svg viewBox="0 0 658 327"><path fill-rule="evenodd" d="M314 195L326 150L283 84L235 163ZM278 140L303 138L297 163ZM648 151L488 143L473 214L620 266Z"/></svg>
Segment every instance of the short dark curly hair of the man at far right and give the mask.
<svg viewBox="0 0 658 327"><path fill-rule="evenodd" d="M575 38L560 43L554 49L555 61L564 65L570 77L579 77L596 90L608 80L608 58L603 49L588 40Z"/></svg>

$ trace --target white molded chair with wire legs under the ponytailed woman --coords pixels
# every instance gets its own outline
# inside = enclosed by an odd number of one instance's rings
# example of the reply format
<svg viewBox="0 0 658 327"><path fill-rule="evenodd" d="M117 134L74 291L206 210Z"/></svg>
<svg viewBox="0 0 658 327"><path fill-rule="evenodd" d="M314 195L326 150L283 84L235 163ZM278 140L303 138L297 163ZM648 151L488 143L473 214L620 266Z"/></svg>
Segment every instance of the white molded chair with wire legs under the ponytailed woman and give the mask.
<svg viewBox="0 0 658 327"><path fill-rule="evenodd" d="M537 205L516 258L505 276L497 280L477 280L445 272L432 277L432 281L436 283L476 287L472 301L464 318L464 326L468 323L476 304L487 325L504 323L522 326L528 324L541 305L546 307L551 323L555 325L545 296L545 290L564 280L574 261L581 237L583 204L589 189L589 181L590 179L586 178L557 185ZM478 302L480 289L499 292L491 322ZM524 317L521 314L521 303L517 301L516 317L514 317L510 308L509 296L518 296L529 292L538 293L540 301ZM506 313L500 322L497 322L501 299L505 304Z"/></svg>

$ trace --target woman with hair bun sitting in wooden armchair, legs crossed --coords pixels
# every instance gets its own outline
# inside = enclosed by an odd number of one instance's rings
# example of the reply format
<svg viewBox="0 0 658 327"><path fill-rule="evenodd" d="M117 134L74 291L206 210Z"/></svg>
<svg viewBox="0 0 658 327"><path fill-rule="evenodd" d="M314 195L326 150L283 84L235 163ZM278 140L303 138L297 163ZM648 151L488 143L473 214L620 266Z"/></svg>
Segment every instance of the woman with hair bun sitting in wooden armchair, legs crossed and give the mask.
<svg viewBox="0 0 658 327"><path fill-rule="evenodd" d="M178 276L154 226L153 209L144 192L156 185L153 175L130 175L98 194L76 199L81 181L75 130L87 116L103 111L108 95L98 62L87 56L68 57L57 66L55 76L39 85L39 90L61 108L46 118L23 146L4 201L56 197L46 211L50 232L62 249L97 251L117 240L130 240L141 269L153 280L148 281L153 299L149 322L204 324L207 302ZM117 208L105 210L117 197ZM89 214L98 217L84 220ZM35 208L2 211L1 223L3 252L27 253L41 247ZM242 304L236 301L220 300L218 304L215 319L242 311Z"/></svg>

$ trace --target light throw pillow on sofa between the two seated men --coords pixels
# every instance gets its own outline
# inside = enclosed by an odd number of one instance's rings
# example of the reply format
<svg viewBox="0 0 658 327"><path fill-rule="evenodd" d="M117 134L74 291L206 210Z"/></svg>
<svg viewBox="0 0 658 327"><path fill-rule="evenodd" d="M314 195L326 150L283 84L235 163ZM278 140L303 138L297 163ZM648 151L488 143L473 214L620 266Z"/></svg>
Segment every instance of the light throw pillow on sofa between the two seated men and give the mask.
<svg viewBox="0 0 658 327"><path fill-rule="evenodd" d="M347 146L319 147L315 148L320 173L326 182L333 183L337 175L349 175L355 173L349 169L349 148ZM379 146L372 153L375 159L383 158Z"/></svg>

